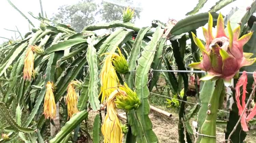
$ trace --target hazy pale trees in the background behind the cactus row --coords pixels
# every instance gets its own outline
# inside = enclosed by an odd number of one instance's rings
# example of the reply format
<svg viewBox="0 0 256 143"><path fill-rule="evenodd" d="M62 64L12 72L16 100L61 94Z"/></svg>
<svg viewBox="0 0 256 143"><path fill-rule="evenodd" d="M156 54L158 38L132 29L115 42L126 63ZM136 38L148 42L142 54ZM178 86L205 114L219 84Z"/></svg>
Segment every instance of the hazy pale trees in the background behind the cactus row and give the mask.
<svg viewBox="0 0 256 143"><path fill-rule="evenodd" d="M97 22L110 22L113 20L121 20L123 15L123 9L133 4L132 0L121 0L118 2L106 2L100 3L94 0L82 0L74 5L60 6L59 12L54 13L52 20L58 20L64 24L70 24L77 32L83 30L83 28L90 24ZM135 16L130 22L134 22L136 18L139 18L139 10L135 10ZM112 30L113 31L113 30Z"/></svg>

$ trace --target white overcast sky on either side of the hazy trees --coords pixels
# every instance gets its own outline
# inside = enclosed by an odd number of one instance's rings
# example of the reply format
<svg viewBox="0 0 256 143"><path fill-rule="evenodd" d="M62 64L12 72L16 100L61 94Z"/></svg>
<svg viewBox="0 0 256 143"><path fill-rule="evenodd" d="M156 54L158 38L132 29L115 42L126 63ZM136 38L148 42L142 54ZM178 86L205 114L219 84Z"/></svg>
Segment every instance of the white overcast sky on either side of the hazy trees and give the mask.
<svg viewBox="0 0 256 143"><path fill-rule="evenodd" d="M34 15L38 15L41 12L39 0L11 0L12 3L18 7L32 22L38 27L39 21L32 18L28 12L32 12ZM58 12L58 8L61 5L75 4L79 0L42 0L43 10L46 11L48 18L53 13ZM141 18L136 21L136 26L143 27L149 26L152 20L160 20L166 22L169 18L181 20L185 18L185 14L191 11L197 4L198 0L157 0L149 2L149 0L134 0L140 2L143 8L141 12ZM207 12L215 2L219 0L208 0L204 5L204 8L200 12ZM246 8L251 4L253 0L237 0L232 4L224 7L221 10L223 15L227 14L231 7L237 6L238 8ZM16 11L7 0L0 0L0 37L11 38L14 36L14 32L6 31L3 28L16 30L18 27L19 31L24 35L29 32L28 21L22 17ZM32 26L31 26L32 28ZM200 30L201 31L201 30ZM199 31L198 31L199 32ZM6 41L0 38L0 43Z"/></svg>

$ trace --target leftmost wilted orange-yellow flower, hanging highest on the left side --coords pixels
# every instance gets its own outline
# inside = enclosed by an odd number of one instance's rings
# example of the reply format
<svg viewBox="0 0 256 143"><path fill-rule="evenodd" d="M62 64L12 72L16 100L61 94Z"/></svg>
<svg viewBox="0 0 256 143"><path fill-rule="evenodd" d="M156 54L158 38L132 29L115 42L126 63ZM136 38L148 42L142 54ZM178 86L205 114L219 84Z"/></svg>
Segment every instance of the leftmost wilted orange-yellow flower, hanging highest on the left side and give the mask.
<svg viewBox="0 0 256 143"><path fill-rule="evenodd" d="M31 76L34 74L34 54L32 47L30 46L26 51L24 59L24 69L23 69L23 78L24 80L28 79L31 81Z"/></svg>

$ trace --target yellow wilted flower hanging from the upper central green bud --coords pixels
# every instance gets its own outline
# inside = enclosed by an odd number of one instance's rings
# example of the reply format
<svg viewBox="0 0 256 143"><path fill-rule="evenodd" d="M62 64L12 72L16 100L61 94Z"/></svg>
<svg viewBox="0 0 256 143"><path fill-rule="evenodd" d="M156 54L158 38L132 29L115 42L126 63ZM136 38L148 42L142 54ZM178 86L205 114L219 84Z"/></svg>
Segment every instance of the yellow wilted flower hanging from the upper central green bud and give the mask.
<svg viewBox="0 0 256 143"><path fill-rule="evenodd" d="M114 91L113 87L116 87L119 84L119 79L117 77L117 73L115 72L115 68L112 65L112 56L113 54L110 53L106 56L105 60L103 61L104 64L101 69L100 73L100 84L101 84L101 91L102 93L101 102L105 101L105 98Z"/></svg>

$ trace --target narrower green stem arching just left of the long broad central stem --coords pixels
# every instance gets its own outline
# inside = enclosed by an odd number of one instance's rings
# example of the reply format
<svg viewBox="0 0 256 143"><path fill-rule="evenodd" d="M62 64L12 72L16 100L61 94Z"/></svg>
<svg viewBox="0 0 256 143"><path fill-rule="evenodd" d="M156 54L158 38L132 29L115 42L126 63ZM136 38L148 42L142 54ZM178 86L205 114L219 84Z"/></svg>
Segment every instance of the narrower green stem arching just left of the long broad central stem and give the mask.
<svg viewBox="0 0 256 143"><path fill-rule="evenodd" d="M141 45L142 45L142 40L145 36L145 34L151 29L151 27L143 27L141 30L139 30L139 33L133 43L130 55L127 59L127 64L128 64L128 69L129 71L135 70L136 68L136 61L139 56L139 52L141 51ZM135 72L129 72L125 76L125 80L127 85L132 89L133 88L133 78L134 78ZM128 82L128 80L130 82ZM130 83L130 84L129 84Z"/></svg>

